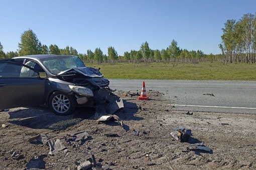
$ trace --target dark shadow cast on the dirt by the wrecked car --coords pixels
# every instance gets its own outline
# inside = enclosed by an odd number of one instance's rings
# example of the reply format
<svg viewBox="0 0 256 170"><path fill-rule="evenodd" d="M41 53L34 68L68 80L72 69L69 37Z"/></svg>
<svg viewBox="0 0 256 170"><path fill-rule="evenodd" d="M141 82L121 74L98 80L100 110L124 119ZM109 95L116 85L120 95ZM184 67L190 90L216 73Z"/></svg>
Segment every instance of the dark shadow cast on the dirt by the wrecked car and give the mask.
<svg viewBox="0 0 256 170"><path fill-rule="evenodd" d="M143 120L143 117L135 116L138 112L136 103L123 100L124 108L117 110L114 114L119 116L120 120ZM9 111L9 123L26 126L34 129L66 129L84 119L93 119L95 109L91 107L78 107L70 115L60 116L54 114L48 107L33 106L21 107L19 110ZM109 124L109 125L117 125ZM123 124L125 130L130 127Z"/></svg>

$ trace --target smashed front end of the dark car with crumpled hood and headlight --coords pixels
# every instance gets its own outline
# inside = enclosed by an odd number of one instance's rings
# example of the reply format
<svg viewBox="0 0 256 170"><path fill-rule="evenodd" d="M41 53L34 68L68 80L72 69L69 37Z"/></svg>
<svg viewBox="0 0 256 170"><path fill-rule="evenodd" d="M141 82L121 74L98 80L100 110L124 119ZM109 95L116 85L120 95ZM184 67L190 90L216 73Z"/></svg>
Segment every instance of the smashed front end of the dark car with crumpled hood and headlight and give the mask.
<svg viewBox="0 0 256 170"><path fill-rule="evenodd" d="M57 77L71 82L68 85L76 102L80 106L95 107L95 118L100 115L113 114L123 107L122 99L112 93L108 87L109 80L103 77L99 69L92 67L78 67L61 72Z"/></svg>

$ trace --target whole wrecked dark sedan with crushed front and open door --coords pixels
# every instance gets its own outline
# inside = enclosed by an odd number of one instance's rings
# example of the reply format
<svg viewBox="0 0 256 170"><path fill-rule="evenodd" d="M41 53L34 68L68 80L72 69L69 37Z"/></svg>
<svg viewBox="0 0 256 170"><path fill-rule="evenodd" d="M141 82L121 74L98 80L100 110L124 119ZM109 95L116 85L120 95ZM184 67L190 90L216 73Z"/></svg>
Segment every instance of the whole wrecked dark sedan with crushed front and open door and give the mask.
<svg viewBox="0 0 256 170"><path fill-rule="evenodd" d="M113 114L123 107L99 69L74 55L27 55L0 59L0 109L45 104L58 115L77 106Z"/></svg>

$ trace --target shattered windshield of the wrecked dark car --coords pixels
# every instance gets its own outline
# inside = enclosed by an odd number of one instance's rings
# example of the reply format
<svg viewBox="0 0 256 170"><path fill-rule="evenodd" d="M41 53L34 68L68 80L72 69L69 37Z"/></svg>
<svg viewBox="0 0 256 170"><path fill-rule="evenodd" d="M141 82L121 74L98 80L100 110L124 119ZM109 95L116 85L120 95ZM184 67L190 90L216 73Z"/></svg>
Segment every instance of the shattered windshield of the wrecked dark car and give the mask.
<svg viewBox="0 0 256 170"><path fill-rule="evenodd" d="M43 60L45 67L53 74L58 74L70 68L85 66L78 56L58 56Z"/></svg>

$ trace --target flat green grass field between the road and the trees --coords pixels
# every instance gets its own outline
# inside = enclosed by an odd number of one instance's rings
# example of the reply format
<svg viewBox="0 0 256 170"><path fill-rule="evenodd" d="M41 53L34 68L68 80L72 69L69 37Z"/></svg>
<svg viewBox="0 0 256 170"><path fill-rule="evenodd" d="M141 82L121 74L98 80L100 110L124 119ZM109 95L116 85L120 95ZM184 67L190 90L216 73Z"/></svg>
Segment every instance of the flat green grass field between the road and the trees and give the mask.
<svg viewBox="0 0 256 170"><path fill-rule="evenodd" d="M256 64L200 63L85 63L98 68L106 78L123 79L191 79L191 80L256 80Z"/></svg>

